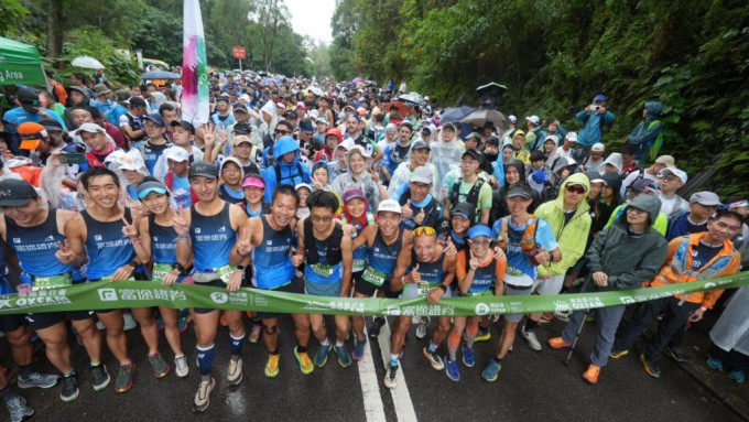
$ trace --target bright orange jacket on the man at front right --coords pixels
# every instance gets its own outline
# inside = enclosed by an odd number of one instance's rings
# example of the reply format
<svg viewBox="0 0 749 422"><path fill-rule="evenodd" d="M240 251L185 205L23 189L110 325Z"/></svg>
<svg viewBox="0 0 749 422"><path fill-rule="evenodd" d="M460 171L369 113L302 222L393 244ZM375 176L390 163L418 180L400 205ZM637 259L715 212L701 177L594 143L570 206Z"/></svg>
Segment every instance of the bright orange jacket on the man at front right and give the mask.
<svg viewBox="0 0 749 422"><path fill-rule="evenodd" d="M674 283L688 283L695 280L706 280L716 277L730 275L739 271L741 255L734 249L734 244L726 240L723 249L705 266L692 271L692 250L707 232L677 237L669 242L669 255L661 271L650 281L650 285L659 286ZM712 292L695 292L687 294L686 301L698 303L708 310L713 309L715 301L720 297L723 290ZM683 294L675 296L683 299Z"/></svg>

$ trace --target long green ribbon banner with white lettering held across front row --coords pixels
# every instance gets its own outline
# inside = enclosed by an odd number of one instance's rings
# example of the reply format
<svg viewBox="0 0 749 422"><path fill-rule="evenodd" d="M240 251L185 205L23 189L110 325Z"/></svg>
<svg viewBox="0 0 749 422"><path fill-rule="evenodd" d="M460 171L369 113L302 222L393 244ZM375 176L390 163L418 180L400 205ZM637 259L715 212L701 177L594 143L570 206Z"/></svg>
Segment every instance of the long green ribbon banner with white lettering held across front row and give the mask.
<svg viewBox="0 0 749 422"><path fill-rule="evenodd" d="M677 294L749 285L749 272L710 280L619 290L558 295L467 296L444 299L437 304L425 299L350 299L273 292L259 289L224 289L149 281L90 282L67 288L37 290L0 296L0 314L34 312L96 311L120 307L167 306L208 307L336 315L422 315L460 316L577 311L628 305Z"/></svg>

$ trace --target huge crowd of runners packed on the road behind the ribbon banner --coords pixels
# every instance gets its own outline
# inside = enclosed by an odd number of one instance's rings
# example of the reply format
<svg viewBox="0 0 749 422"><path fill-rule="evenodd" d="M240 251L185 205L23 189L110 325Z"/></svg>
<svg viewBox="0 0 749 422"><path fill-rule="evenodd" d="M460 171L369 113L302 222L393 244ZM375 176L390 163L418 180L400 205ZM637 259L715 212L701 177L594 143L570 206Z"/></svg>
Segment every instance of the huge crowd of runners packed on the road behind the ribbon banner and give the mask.
<svg viewBox="0 0 749 422"><path fill-rule="evenodd" d="M265 85L260 77L216 74L210 119L196 127L181 117L178 82L112 93L102 72L75 74L67 89L48 76L50 91L11 89L14 107L0 120L3 293L153 280L437 303L685 283L736 273L749 257L741 253L749 248L749 202L707 191L682 198L677 192L688 176L674 158L649 160L660 147L658 101L643 107L643 122L610 152L605 128L615 115L604 95L577 113L577 131L538 116L471 127L441 119L439 104L427 97L399 99L392 85ZM725 367L738 382L749 361L747 328L737 328L746 321L746 289L710 332L707 355L707 365ZM584 321L595 318L583 379L596 383L608 359L627 355L659 318L640 355L645 372L659 377L662 354L688 361L685 328L721 293L638 305L619 336L625 305L502 315L496 356L478 363L480 376L498 379L518 332L541 350L541 324L560 318L568 323L547 345L568 348ZM76 350L90 360L86 376L94 390L113 383L128 391L135 365L145 361L158 378L172 370L186 377L193 366L200 374L193 409L202 412L215 387L218 327L228 326L231 357L222 365L236 386L246 339L262 338L264 375L279 375L278 325L285 317L198 307L98 310L2 315L0 331L19 367L19 388L59 383L61 399L76 400L82 368L72 364L72 333L83 346ZM332 327L317 314L291 318L296 345L285 347L303 374L325 366L330 351L344 368L362 360L368 338L384 324L381 316L367 328L362 316L337 315ZM133 320L148 356L129 354L124 329ZM397 388L412 323L428 365L459 381L470 371L462 366L477 364L476 342L490 339L498 320L397 317L384 385ZM181 342L189 322L196 367ZM173 364L160 346L160 328ZM32 364L34 335L58 375ZM112 378L102 363L105 340L118 363ZM0 396L13 421L33 413L2 371Z"/></svg>

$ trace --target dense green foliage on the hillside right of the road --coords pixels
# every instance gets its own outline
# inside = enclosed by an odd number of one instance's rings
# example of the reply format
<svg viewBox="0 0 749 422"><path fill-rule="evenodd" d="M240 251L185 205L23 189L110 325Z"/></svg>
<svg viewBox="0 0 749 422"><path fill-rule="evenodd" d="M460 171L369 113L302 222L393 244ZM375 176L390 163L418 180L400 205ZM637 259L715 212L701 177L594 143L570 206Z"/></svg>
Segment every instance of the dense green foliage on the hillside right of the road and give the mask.
<svg viewBox="0 0 749 422"><path fill-rule="evenodd" d="M474 104L476 86L507 85L506 113L575 113L598 93L625 142L642 105L665 109L665 145L707 187L749 187L749 3L655 0L341 0L333 19L335 76L363 76Z"/></svg>

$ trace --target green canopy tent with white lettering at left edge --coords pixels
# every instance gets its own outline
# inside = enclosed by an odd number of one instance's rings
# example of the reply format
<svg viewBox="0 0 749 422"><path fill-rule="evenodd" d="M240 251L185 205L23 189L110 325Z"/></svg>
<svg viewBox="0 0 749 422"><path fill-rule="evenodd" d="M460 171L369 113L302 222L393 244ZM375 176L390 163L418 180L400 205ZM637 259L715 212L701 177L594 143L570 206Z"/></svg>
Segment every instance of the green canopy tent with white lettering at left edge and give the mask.
<svg viewBox="0 0 749 422"><path fill-rule="evenodd" d="M0 85L46 85L35 46L0 36Z"/></svg>

